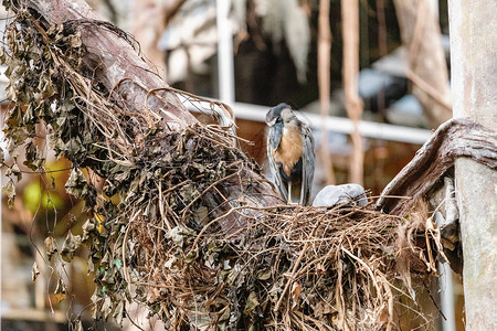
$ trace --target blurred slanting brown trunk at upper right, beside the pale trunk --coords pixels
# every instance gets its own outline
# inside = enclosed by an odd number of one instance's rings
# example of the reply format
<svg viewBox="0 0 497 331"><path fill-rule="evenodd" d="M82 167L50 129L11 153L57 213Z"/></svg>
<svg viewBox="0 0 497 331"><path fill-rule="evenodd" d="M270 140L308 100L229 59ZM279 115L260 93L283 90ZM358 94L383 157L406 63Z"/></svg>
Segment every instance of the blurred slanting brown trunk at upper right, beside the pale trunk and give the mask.
<svg viewBox="0 0 497 331"><path fill-rule="evenodd" d="M432 129L452 116L451 90L438 23L427 0L394 0L402 43L408 49L408 77ZM413 79L415 77L415 79Z"/></svg>

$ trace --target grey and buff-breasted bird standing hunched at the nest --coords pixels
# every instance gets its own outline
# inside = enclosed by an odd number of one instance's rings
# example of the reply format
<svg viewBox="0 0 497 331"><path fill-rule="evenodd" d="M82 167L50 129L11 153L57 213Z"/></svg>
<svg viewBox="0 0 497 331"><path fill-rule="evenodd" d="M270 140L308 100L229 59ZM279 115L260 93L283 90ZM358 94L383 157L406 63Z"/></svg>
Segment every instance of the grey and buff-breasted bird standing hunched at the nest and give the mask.
<svg viewBox="0 0 497 331"><path fill-rule="evenodd" d="M284 103L271 108L265 121L269 127L267 159L276 189L288 204L307 205L316 163L311 130Z"/></svg>

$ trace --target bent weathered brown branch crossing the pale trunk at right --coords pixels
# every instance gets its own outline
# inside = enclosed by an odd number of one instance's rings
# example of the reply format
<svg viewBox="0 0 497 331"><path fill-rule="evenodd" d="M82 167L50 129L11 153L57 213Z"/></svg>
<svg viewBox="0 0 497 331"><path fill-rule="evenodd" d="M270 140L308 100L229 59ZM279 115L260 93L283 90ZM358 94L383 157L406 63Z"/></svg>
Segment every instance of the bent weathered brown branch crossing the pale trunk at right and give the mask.
<svg viewBox="0 0 497 331"><path fill-rule="evenodd" d="M443 124L387 185L377 206L385 213L403 215L419 197L424 197L456 158L470 158L497 169L497 134L468 119Z"/></svg>

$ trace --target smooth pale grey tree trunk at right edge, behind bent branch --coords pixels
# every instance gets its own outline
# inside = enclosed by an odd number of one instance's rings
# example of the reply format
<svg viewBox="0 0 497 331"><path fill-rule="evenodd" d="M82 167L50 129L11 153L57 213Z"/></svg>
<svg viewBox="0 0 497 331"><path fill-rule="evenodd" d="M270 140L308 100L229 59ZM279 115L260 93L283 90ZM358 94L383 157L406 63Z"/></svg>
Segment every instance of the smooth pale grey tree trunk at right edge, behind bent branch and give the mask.
<svg viewBox="0 0 497 331"><path fill-rule="evenodd" d="M454 117L497 129L497 3L450 1ZM455 163L467 330L497 330L497 171Z"/></svg>

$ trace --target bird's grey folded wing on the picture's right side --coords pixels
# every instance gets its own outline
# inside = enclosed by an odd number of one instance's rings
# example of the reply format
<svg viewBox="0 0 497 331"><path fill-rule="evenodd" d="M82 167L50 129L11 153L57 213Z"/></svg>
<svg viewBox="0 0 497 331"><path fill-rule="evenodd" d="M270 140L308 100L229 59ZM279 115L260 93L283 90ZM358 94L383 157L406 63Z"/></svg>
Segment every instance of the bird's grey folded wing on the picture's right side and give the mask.
<svg viewBox="0 0 497 331"><path fill-rule="evenodd" d="M316 164L316 157L314 153L314 138L310 128L303 125L303 164L302 164L302 190L300 204L308 204L310 199L310 189L313 188L314 168Z"/></svg>

